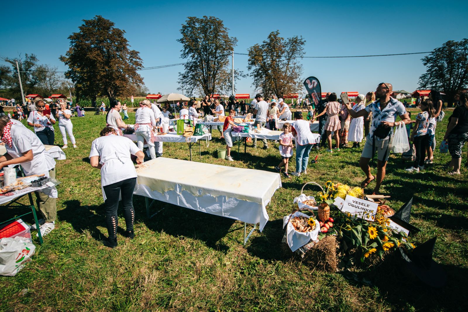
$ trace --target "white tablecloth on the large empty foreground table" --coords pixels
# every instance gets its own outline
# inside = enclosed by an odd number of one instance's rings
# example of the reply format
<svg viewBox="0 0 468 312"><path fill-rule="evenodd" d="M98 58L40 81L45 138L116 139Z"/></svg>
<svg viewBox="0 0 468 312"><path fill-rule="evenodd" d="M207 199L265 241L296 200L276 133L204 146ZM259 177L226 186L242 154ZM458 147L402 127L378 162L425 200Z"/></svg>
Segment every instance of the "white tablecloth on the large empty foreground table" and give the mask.
<svg viewBox="0 0 468 312"><path fill-rule="evenodd" d="M159 157L137 168L134 194L246 223L268 221L278 173ZM209 226L207 224L207 226Z"/></svg>

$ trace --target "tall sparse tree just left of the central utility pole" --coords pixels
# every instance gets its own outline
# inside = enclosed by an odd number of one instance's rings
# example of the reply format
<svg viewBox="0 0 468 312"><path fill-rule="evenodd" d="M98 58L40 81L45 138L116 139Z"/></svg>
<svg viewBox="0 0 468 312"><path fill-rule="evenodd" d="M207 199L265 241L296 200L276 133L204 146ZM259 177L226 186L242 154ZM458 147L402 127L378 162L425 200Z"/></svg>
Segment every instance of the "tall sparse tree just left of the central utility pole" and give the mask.
<svg viewBox="0 0 468 312"><path fill-rule="evenodd" d="M228 30L214 16L188 17L182 25L182 38L177 41L183 45L181 57L188 61L184 72L179 73L179 85L189 96L194 92L212 95L231 90L229 56L237 38L229 37Z"/></svg>

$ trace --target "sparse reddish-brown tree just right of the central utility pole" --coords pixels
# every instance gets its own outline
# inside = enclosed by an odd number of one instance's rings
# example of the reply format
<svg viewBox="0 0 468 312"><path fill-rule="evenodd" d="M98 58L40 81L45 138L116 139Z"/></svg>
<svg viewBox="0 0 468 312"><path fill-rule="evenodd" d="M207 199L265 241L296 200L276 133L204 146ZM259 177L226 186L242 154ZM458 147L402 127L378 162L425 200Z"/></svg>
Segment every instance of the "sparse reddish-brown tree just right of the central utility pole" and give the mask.
<svg viewBox="0 0 468 312"><path fill-rule="evenodd" d="M283 38L279 31L272 31L262 45L249 48L248 69L253 78L253 86L261 89L267 97L284 97L297 93L302 88L302 65L299 59L304 56L302 37Z"/></svg>

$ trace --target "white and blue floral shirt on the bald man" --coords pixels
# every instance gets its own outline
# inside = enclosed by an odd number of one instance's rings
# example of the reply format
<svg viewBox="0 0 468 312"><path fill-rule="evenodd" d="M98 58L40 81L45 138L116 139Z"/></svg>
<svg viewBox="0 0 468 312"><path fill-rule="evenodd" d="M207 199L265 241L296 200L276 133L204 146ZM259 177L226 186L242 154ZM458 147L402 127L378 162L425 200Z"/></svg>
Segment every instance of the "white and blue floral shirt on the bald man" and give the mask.
<svg viewBox="0 0 468 312"><path fill-rule="evenodd" d="M382 121L395 122L396 117L406 114L405 106L402 102L395 100L390 97L390 102L385 108L380 111L380 100L372 102L366 106L367 112L372 112L372 124L369 130L369 137L372 138L375 129L380 125ZM376 137L377 141L387 140L393 133L393 128L390 129L390 133L385 139Z"/></svg>

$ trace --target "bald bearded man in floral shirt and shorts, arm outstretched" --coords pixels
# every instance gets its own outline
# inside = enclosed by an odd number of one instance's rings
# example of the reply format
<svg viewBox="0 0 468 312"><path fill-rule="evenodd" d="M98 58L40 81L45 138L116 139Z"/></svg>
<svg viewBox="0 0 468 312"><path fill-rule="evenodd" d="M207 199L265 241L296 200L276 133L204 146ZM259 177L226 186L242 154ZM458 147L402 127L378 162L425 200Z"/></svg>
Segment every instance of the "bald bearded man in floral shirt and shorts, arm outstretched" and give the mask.
<svg viewBox="0 0 468 312"><path fill-rule="evenodd" d="M373 158L377 150L377 180L373 193L379 194L380 185L385 178L385 168L388 161L388 142L393 133L393 127L398 126L400 123L409 124L411 119L406 112L404 105L391 97L393 93L393 86L390 83L379 83L375 90L375 97L378 100L372 104L367 105L366 109L360 111L353 111L351 105L346 104L346 109L352 118L364 117L372 112L373 120L369 134L366 137L366 145L362 150L359 166L366 174L366 179L362 181L361 187L365 188L375 177L371 173L369 161ZM397 117L402 119L395 122Z"/></svg>

